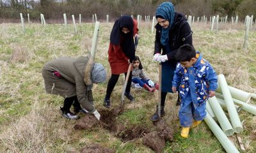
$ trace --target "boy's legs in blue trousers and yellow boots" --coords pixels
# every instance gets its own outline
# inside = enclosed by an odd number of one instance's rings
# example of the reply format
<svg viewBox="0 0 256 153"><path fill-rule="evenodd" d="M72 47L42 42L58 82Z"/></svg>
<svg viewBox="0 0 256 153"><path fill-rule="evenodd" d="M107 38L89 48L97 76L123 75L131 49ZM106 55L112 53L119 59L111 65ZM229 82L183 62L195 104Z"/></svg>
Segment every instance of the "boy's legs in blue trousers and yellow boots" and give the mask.
<svg viewBox="0 0 256 153"><path fill-rule="evenodd" d="M200 106L197 106L197 104L193 103L191 97L182 101L179 110L180 125L182 126L180 136L188 138L189 129L191 127L195 128L200 124L200 122L202 122L206 115L205 105L206 104L204 103Z"/></svg>

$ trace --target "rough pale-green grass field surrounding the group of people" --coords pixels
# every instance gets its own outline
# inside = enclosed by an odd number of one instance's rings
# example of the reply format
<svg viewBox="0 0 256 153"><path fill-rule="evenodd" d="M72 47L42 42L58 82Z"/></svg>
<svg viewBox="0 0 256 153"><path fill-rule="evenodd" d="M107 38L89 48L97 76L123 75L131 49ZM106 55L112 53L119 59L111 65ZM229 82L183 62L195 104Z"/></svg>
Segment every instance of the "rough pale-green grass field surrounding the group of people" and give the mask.
<svg viewBox="0 0 256 153"><path fill-rule="evenodd" d="M109 34L113 23L101 23L95 61L108 63ZM220 24L218 33L211 32L210 24L193 24L193 44L204 54L218 74L224 74L228 85L247 92L256 92L256 25L248 37L248 48L243 48L243 24ZM141 138L122 142L106 129L76 130L77 120L61 117L63 98L46 94L41 69L45 62L61 56L79 57L90 52L94 26L92 23L74 27L61 24L26 25L0 24L0 152L80 152L91 143L100 143L116 152L153 152L144 146ZM152 80L158 79L157 63L152 61L154 33L151 24L141 23L140 42L136 54ZM120 104L124 79L121 76L111 95L112 106ZM105 109L102 101L107 82L93 86L95 107ZM125 100L125 112L118 122L125 126L141 125L154 128L149 120L155 112L157 92L132 89L135 103ZM191 131L188 139L180 138L175 106L176 94L166 99L165 122L175 131L173 142L168 142L165 152L225 152L205 122ZM256 101L251 100L256 105ZM244 131L241 133L246 152L256 152L256 117L241 111ZM237 149L236 135L230 136Z"/></svg>

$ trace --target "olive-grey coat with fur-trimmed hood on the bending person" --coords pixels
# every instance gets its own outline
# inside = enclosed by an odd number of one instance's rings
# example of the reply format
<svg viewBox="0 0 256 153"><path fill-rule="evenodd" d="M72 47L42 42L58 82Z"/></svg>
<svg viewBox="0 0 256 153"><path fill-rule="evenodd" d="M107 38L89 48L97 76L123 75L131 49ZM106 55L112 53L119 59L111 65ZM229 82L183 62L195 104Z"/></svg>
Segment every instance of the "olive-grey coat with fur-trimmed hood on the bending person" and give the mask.
<svg viewBox="0 0 256 153"><path fill-rule="evenodd" d="M78 57L77 59L60 57L47 62L42 69L45 91L64 98L77 96L83 108L93 112L95 110L91 80L93 64L93 58L90 56ZM54 76L53 71L58 71L61 77Z"/></svg>

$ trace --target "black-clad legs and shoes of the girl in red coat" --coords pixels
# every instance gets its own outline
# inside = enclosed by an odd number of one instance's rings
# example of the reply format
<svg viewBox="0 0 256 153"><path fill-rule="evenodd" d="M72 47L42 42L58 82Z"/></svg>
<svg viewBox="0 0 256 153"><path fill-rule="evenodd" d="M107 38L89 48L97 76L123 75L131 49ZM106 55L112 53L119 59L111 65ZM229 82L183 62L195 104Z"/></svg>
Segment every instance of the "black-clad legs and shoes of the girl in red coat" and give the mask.
<svg viewBox="0 0 256 153"><path fill-rule="evenodd" d="M127 77L127 73L124 73L125 74L125 78ZM108 87L107 87L107 91L106 91L106 96L105 96L105 99L104 99L104 106L106 106L107 108L110 107L110 96L111 96L111 93L116 85L116 82L118 81L118 78L119 78L120 75L114 75L114 74L111 74L111 77L109 78L109 81L108 81ZM130 92L131 92L131 83L132 83L132 75L130 74L129 75L129 79L128 79L128 82L127 82L127 86L126 86L126 89L125 89L125 96L130 100L130 101L133 101L133 97L131 96Z"/></svg>

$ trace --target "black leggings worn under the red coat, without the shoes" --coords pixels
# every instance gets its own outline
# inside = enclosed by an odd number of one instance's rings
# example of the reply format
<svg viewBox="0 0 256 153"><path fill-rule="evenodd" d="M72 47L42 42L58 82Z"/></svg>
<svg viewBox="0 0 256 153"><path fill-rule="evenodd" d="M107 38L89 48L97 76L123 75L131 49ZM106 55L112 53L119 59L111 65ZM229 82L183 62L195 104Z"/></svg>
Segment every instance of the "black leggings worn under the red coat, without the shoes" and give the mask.
<svg viewBox="0 0 256 153"><path fill-rule="evenodd" d="M124 73L124 74L125 74L125 78L126 78L127 73ZM119 78L119 75L111 74L111 77L109 78L109 81L108 81L108 87L107 87L107 91L106 91L106 98L108 98L108 99L110 98L111 93L112 93L112 91L113 91L113 89L116 85L116 82L118 81L118 78ZM128 82L127 82L125 92L129 93L131 91L131 84L132 84L132 72L129 75L129 79L128 79Z"/></svg>

